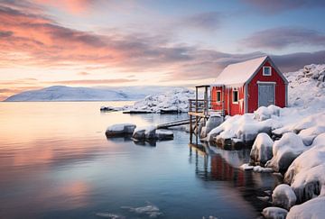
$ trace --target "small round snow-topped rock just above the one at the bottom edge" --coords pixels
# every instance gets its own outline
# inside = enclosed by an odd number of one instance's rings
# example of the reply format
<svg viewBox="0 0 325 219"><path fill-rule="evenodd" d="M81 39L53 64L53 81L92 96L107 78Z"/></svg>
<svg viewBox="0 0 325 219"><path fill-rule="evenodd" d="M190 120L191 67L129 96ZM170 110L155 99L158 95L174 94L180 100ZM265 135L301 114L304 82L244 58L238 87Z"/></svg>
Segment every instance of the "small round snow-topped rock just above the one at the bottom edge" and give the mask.
<svg viewBox="0 0 325 219"><path fill-rule="evenodd" d="M273 204L289 210L292 205L295 205L297 197L295 196L292 187L286 184L280 184L275 187L272 194Z"/></svg>

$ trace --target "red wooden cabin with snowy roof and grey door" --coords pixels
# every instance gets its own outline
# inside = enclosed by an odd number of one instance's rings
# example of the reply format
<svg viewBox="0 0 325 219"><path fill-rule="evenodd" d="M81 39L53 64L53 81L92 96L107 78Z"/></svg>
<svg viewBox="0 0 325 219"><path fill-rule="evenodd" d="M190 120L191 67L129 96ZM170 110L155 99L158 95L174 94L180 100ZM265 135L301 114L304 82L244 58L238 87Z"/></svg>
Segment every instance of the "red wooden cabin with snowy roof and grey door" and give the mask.
<svg viewBox="0 0 325 219"><path fill-rule="evenodd" d="M288 81L268 57L228 65L211 85L211 108L224 114L253 113L262 105L285 107Z"/></svg>

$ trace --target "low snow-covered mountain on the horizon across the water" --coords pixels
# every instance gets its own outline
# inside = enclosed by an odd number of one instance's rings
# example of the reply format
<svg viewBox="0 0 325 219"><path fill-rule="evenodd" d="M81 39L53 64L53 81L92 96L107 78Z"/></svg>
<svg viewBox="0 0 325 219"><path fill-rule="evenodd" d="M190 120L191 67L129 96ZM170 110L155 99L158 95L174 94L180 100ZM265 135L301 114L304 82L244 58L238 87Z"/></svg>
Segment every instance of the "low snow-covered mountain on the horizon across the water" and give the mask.
<svg viewBox="0 0 325 219"><path fill-rule="evenodd" d="M172 87L65 87L53 86L9 96L5 101L111 101L138 100Z"/></svg>

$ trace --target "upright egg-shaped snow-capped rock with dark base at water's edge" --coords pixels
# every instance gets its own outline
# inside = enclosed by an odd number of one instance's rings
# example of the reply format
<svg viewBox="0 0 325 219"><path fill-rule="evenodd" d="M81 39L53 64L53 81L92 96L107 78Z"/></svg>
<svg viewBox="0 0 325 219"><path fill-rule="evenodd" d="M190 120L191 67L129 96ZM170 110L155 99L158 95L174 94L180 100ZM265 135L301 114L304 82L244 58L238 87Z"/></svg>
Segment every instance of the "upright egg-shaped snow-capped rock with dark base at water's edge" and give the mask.
<svg viewBox="0 0 325 219"><path fill-rule="evenodd" d="M267 160L273 157L272 147L274 141L266 133L259 133L254 141L250 158L255 163L265 165Z"/></svg>

